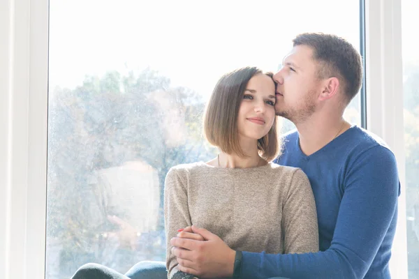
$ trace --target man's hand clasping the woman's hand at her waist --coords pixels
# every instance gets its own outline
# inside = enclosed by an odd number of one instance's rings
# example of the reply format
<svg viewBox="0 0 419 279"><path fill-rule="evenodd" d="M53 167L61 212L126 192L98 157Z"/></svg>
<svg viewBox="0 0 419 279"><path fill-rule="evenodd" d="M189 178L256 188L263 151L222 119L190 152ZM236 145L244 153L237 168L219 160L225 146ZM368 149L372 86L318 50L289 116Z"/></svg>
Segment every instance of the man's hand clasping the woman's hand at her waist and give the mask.
<svg viewBox="0 0 419 279"><path fill-rule="evenodd" d="M207 229L199 229L194 225L191 229L193 234L199 234L204 241L196 240L197 236L192 236L190 232L185 234L193 239L170 239L172 253L178 262L177 268L203 278L233 276L235 250Z"/></svg>

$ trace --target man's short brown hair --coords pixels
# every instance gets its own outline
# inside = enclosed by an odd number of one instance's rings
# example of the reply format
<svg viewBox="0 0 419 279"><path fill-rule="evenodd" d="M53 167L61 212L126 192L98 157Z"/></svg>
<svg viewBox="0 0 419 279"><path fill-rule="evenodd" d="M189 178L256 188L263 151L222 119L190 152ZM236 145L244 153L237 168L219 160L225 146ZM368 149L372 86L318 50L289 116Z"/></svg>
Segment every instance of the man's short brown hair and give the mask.
<svg viewBox="0 0 419 279"><path fill-rule="evenodd" d="M346 95L346 105L351 102L362 85L361 56L351 43L331 34L302 33L293 40L293 45L311 47L314 60L319 62L318 77L337 77Z"/></svg>

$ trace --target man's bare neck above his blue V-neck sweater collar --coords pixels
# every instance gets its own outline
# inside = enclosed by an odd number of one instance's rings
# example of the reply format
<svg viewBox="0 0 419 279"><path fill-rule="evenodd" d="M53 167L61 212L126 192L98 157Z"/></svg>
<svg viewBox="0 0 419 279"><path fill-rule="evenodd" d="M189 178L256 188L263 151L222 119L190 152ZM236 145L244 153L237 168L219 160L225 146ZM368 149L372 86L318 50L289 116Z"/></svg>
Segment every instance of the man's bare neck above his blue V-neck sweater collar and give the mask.
<svg viewBox="0 0 419 279"><path fill-rule="evenodd" d="M300 148L307 156L316 153L351 128L351 124L341 117L329 119L311 117L295 126L300 137Z"/></svg>

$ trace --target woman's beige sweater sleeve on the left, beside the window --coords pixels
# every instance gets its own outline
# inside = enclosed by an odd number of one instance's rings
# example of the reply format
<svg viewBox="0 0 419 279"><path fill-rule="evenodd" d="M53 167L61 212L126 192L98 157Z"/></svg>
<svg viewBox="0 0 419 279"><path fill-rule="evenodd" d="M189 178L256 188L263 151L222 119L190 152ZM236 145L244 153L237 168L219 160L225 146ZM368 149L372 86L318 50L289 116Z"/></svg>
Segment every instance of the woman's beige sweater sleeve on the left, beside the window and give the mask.
<svg viewBox="0 0 419 279"><path fill-rule="evenodd" d="M166 268L168 278L177 278L179 273L175 255L172 255L170 239L176 236L177 229L191 226L188 209L186 186L177 173L177 169L170 169L166 175L164 189L164 225L166 230ZM177 276L175 276L175 274ZM183 273L186 276L185 273Z"/></svg>

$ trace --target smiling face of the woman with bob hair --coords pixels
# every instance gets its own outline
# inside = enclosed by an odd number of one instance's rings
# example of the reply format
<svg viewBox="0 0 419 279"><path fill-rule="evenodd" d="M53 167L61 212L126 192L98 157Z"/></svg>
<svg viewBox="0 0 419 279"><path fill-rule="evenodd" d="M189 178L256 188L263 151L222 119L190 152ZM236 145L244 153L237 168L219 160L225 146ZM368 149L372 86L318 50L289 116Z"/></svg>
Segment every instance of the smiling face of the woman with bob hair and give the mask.
<svg viewBox="0 0 419 279"><path fill-rule="evenodd" d="M240 137L259 140L272 128L275 119L275 85L265 74L254 75L244 90L237 118Z"/></svg>

